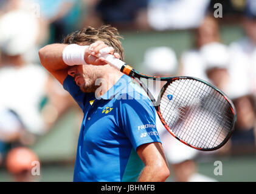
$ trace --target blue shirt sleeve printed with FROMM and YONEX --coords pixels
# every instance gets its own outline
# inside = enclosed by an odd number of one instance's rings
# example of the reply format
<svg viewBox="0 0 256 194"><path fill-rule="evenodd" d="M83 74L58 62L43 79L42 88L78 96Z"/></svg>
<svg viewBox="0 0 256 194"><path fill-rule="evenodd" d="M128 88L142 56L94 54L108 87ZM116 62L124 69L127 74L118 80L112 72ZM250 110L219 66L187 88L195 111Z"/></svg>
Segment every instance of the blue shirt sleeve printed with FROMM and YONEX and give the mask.
<svg viewBox="0 0 256 194"><path fill-rule="evenodd" d="M156 111L150 99L122 100L119 122L134 150L142 144L161 142L156 129Z"/></svg>

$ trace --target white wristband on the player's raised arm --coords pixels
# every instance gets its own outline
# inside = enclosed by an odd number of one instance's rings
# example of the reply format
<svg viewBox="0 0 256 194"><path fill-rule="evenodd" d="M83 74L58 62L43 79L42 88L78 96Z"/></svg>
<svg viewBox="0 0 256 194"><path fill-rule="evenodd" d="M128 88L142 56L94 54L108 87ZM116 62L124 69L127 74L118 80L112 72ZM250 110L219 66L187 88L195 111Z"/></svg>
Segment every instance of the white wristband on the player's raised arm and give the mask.
<svg viewBox="0 0 256 194"><path fill-rule="evenodd" d="M67 65L87 65L85 49L88 45L69 44L62 52L62 59Z"/></svg>

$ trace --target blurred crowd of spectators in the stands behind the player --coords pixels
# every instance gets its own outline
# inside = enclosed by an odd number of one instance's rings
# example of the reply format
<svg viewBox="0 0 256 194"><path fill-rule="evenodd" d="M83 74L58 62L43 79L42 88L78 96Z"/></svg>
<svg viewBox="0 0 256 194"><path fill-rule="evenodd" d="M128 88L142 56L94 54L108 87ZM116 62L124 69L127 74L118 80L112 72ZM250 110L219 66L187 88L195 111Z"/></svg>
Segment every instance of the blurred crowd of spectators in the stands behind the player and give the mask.
<svg viewBox="0 0 256 194"><path fill-rule="evenodd" d="M80 28L102 24L117 27L121 35L122 31L192 32L194 45L181 56L171 47L148 48L144 69L158 76L195 76L223 90L234 102L238 120L230 141L214 154L255 153L254 0L0 0L0 168L6 167L15 180L30 181L31 161L40 158L29 146L69 109L77 108L42 69L38 49L61 42ZM224 44L223 24L241 25L244 37ZM157 122L173 169L171 181L215 181L196 172L194 159L199 153L169 141Z"/></svg>

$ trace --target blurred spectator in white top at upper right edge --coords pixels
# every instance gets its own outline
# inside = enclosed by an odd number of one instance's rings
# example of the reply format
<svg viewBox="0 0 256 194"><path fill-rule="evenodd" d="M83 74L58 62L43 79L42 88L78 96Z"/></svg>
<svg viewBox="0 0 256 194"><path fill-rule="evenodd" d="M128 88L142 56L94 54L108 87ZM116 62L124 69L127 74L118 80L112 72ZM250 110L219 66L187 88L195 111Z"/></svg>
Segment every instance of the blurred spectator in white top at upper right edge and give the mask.
<svg viewBox="0 0 256 194"><path fill-rule="evenodd" d="M247 1L243 22L245 36L230 44L230 74L238 91L256 95L256 3ZM237 79L239 78L239 79ZM237 98L237 95L234 98Z"/></svg>

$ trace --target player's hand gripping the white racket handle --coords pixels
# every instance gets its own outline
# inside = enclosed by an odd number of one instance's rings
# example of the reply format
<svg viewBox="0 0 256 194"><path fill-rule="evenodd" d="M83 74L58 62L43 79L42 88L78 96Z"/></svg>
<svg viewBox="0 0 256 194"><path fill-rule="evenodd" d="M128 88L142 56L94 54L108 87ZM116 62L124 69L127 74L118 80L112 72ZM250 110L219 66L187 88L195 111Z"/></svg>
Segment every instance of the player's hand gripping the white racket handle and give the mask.
<svg viewBox="0 0 256 194"><path fill-rule="evenodd" d="M120 59L119 53L114 53L113 47L109 47L103 41L96 41L85 50L85 62L91 65L105 65L107 62L100 56L107 53Z"/></svg>

